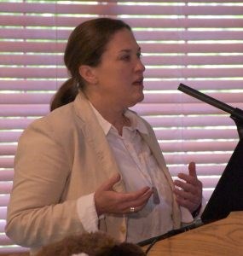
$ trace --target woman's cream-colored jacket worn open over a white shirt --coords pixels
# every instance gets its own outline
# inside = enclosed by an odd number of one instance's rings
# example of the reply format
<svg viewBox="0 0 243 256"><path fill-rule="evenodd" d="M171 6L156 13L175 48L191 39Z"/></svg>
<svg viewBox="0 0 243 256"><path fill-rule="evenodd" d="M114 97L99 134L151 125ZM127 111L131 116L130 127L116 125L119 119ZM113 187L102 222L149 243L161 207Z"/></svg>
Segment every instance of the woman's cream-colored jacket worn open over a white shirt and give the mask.
<svg viewBox="0 0 243 256"><path fill-rule="evenodd" d="M171 175L157 139L151 126L143 122L149 135L141 136L165 172L172 193ZM74 102L35 120L21 135L14 160L7 236L36 251L64 236L80 234L84 226L76 209L78 198L94 192L117 172L105 134L90 103L80 93ZM124 191L122 180L114 189ZM172 216L174 228L178 228L181 212L175 198ZM126 218L107 215L99 228L124 241Z"/></svg>

